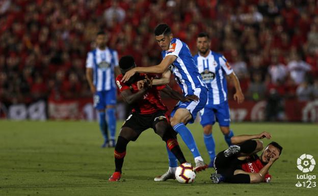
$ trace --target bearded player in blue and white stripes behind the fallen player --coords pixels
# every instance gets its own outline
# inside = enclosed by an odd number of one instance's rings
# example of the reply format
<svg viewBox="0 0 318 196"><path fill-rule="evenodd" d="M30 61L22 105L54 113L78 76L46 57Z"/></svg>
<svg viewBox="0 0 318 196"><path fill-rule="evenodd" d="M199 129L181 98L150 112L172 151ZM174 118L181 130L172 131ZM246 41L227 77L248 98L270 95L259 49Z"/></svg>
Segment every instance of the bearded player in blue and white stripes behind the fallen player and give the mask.
<svg viewBox="0 0 318 196"><path fill-rule="evenodd" d="M215 141L212 135L212 127L216 121L224 134L225 142L231 145L233 131L230 130L230 109L227 101L228 76L234 83L236 93L233 98L237 103L244 101L244 95L232 68L222 54L210 50L210 38L206 33L200 33L197 37L197 48L199 53L194 56L194 62L199 73L208 88L208 99L204 108L200 111L201 125L203 127L203 138L206 150L210 156L209 167L213 167L215 154Z"/></svg>

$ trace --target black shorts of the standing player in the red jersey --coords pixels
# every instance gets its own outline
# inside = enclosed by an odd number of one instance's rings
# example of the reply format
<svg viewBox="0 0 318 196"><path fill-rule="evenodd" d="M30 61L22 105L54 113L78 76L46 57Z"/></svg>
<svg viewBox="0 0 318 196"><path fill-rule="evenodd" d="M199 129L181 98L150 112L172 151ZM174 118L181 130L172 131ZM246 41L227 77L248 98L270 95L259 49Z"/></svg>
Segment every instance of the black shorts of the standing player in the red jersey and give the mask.
<svg viewBox="0 0 318 196"><path fill-rule="evenodd" d="M154 131L156 131L155 125L160 121L166 121L168 123L168 127L170 128L167 131L171 131L174 135L177 134L172 129L169 122L169 117L166 115L164 110L158 110L155 113L147 115L133 113L128 116L122 127L129 127L133 129L139 136L144 130L149 128L152 128ZM132 141L136 141L138 136L132 139Z"/></svg>

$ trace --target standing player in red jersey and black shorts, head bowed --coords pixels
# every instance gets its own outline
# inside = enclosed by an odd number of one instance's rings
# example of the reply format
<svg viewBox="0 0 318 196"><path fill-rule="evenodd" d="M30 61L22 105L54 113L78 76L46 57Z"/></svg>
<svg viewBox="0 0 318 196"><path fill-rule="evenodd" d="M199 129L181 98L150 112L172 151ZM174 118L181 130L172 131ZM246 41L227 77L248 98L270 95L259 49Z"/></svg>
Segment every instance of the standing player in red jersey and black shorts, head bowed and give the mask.
<svg viewBox="0 0 318 196"><path fill-rule="evenodd" d="M159 91L184 102L198 100L198 97L195 95L184 97L169 86L152 86L152 80L149 80L142 73L136 73L128 81L121 82L123 75L136 67L134 58L131 56L122 57L119 61L119 67L122 74L117 76L116 83L121 96L133 109L120 129L114 151L116 169L109 181L120 179L127 144L130 141L136 141L139 135L148 128L152 128L156 134L160 135L167 144L167 150L174 154L180 164L186 162L176 139L177 133L169 123L169 118L166 115L167 107L162 102ZM143 87L140 87L139 90L138 81L141 80L143 80Z"/></svg>

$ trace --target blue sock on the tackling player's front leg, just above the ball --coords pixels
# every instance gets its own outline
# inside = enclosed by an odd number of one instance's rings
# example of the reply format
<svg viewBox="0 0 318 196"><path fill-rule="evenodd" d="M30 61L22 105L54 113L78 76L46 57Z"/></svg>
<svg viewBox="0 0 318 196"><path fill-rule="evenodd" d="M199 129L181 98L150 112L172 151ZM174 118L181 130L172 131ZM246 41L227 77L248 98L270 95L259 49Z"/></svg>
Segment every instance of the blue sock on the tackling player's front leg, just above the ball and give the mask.
<svg viewBox="0 0 318 196"><path fill-rule="evenodd" d="M192 152L193 158L201 156L197 147L197 144L194 141L194 138L190 130L183 123L176 124L173 129L178 132L183 140L186 143L189 150Z"/></svg>

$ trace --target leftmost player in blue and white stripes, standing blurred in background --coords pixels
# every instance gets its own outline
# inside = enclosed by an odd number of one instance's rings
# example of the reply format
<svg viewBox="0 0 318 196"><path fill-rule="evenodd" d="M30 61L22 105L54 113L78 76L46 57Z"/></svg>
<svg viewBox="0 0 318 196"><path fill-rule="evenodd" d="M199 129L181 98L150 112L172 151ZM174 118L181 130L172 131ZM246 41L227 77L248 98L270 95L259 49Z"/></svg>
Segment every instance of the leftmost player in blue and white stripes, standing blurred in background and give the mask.
<svg viewBox="0 0 318 196"><path fill-rule="evenodd" d="M86 78L94 95L94 107L98 110L99 128L104 137L104 147L115 147L116 133L116 86L115 73L119 74L117 51L107 47L107 36L97 33L96 49L88 52L86 61ZM105 109L107 111L106 114ZM110 139L108 138L108 128Z"/></svg>

